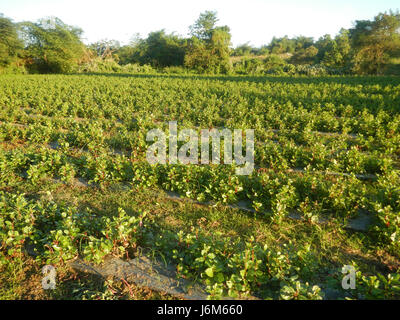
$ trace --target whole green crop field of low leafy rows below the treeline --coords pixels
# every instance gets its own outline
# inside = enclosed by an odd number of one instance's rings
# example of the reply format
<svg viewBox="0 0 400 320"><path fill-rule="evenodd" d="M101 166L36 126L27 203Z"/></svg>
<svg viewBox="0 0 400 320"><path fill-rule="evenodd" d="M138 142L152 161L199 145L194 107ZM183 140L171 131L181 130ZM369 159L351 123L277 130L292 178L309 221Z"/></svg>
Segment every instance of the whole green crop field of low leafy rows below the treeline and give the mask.
<svg viewBox="0 0 400 320"><path fill-rule="evenodd" d="M398 77L4 75L0 106L3 299L173 298L68 264L143 250L212 299L400 298ZM150 165L169 121L254 129L255 170Z"/></svg>

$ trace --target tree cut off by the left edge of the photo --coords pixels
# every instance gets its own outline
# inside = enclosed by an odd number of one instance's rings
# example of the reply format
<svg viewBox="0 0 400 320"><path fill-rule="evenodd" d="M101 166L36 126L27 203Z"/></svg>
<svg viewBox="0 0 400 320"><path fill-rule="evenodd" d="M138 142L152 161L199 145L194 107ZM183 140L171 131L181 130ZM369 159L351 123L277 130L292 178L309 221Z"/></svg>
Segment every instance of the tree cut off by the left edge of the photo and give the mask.
<svg viewBox="0 0 400 320"><path fill-rule="evenodd" d="M0 67L6 67L17 59L22 49L16 25L0 14Z"/></svg>

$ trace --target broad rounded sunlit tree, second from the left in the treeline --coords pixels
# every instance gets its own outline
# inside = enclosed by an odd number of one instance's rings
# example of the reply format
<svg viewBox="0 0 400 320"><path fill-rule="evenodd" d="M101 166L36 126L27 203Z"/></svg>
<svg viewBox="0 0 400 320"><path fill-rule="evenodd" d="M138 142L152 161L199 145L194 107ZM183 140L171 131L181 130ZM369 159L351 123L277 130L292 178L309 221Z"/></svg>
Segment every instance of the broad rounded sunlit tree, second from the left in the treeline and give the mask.
<svg viewBox="0 0 400 320"><path fill-rule="evenodd" d="M58 18L37 23L21 23L29 67L41 73L65 73L73 70L83 57L82 30L66 25Z"/></svg>

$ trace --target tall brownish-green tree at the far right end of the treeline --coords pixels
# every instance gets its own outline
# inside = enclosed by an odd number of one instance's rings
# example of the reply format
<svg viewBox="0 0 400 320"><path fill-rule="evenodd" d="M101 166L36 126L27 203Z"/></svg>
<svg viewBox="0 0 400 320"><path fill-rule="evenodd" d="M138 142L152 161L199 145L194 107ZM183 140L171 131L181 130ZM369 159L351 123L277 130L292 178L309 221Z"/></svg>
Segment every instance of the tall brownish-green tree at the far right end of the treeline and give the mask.
<svg viewBox="0 0 400 320"><path fill-rule="evenodd" d="M373 21L358 20L350 29L354 48L354 71L361 74L382 74L389 60L399 56L400 14L380 13Z"/></svg>

